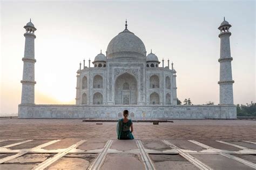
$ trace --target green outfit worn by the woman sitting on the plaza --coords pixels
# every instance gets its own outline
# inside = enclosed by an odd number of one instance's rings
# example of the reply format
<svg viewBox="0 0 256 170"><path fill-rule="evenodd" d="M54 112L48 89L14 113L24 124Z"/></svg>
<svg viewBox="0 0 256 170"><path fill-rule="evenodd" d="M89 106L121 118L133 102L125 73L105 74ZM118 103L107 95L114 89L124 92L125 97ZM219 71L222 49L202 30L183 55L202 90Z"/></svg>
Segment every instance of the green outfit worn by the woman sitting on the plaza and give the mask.
<svg viewBox="0 0 256 170"><path fill-rule="evenodd" d="M117 139L134 139L130 131L131 125L131 119L126 123L124 123L124 119L119 119L117 123Z"/></svg>

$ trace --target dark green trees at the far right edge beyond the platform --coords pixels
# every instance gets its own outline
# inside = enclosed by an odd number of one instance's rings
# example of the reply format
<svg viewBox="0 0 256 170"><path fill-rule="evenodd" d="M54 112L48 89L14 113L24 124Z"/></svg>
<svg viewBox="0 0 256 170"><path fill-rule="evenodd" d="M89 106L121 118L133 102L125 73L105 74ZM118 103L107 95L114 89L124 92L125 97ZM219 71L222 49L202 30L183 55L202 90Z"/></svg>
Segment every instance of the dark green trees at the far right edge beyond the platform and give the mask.
<svg viewBox="0 0 256 170"><path fill-rule="evenodd" d="M246 103L246 105L237 104L237 115L256 116L256 103L251 101L250 104Z"/></svg>

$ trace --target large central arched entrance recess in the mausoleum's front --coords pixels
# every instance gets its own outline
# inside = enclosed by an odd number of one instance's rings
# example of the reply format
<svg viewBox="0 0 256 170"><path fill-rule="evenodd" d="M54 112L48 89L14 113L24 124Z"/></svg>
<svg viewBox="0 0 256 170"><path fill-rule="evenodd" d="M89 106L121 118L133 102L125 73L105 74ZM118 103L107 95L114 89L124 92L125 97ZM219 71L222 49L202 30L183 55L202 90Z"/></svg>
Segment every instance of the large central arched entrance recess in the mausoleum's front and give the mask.
<svg viewBox="0 0 256 170"><path fill-rule="evenodd" d="M114 104L137 105L138 87L137 80L129 73L117 77L114 83Z"/></svg>

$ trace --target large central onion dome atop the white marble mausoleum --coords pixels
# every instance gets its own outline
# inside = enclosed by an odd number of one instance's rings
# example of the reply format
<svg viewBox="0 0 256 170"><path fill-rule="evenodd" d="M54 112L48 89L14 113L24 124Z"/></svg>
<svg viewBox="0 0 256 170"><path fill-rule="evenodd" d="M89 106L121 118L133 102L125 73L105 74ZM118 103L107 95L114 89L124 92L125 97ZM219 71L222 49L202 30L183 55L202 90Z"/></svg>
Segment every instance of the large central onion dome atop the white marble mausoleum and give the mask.
<svg viewBox="0 0 256 170"><path fill-rule="evenodd" d="M107 46L107 58L145 58L142 40L127 28L114 37Z"/></svg>

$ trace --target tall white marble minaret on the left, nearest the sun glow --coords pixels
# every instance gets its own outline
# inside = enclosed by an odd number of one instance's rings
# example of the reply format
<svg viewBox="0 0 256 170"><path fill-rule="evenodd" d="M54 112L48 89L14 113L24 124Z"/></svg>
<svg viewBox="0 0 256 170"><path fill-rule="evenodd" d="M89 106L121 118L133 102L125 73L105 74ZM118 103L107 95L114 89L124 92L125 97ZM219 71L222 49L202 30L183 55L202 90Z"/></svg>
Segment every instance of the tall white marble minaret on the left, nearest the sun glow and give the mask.
<svg viewBox="0 0 256 170"><path fill-rule="evenodd" d="M23 60L23 78L22 83L22 100L21 104L35 104L35 38L36 31L33 23L27 23L24 26L26 32L25 37L25 51Z"/></svg>

